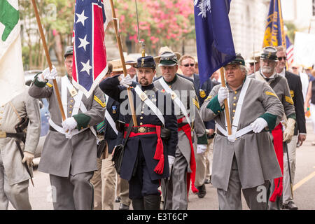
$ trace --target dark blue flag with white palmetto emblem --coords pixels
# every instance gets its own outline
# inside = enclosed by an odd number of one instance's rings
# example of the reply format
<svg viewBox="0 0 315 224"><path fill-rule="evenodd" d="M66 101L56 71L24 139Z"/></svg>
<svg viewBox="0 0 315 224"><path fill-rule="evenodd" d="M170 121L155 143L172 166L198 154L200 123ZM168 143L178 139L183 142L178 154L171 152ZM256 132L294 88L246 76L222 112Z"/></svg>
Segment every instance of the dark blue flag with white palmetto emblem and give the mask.
<svg viewBox="0 0 315 224"><path fill-rule="evenodd" d="M231 0L195 0L200 86L214 71L235 59L228 13Z"/></svg>

